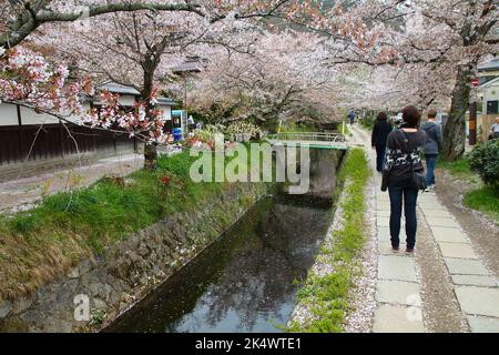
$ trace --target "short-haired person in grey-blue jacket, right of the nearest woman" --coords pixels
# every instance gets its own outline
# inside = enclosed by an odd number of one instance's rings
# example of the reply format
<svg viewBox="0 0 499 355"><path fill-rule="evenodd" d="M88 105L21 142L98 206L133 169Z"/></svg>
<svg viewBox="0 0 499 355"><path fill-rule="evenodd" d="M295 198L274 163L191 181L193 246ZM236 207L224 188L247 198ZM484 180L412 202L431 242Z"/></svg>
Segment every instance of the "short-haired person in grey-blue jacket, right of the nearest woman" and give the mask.
<svg viewBox="0 0 499 355"><path fill-rule="evenodd" d="M444 141L444 134L441 126L435 123L437 118L437 111L428 111L428 121L421 125L421 130L426 133L426 143L424 148L426 156L426 184L428 185L427 192L435 187L435 168L437 168L438 154Z"/></svg>

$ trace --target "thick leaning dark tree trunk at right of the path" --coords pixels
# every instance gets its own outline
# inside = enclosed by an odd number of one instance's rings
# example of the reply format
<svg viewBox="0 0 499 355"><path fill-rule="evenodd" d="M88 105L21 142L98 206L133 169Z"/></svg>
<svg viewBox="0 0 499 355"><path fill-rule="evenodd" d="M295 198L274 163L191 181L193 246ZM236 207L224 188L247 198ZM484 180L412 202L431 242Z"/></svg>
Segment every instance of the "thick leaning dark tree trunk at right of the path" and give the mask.
<svg viewBox="0 0 499 355"><path fill-rule="evenodd" d="M457 161L465 154L466 111L469 108L471 70L460 67L452 91L449 119L444 128L444 158Z"/></svg>

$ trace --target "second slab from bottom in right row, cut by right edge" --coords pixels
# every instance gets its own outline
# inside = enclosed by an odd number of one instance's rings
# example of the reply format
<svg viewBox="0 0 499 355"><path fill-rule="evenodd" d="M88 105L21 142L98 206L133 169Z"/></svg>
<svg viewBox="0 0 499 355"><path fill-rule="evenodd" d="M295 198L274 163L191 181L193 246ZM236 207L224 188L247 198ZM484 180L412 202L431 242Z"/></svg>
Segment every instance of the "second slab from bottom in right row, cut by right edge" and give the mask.
<svg viewBox="0 0 499 355"><path fill-rule="evenodd" d="M499 317L499 288L459 286L456 296L467 314Z"/></svg>

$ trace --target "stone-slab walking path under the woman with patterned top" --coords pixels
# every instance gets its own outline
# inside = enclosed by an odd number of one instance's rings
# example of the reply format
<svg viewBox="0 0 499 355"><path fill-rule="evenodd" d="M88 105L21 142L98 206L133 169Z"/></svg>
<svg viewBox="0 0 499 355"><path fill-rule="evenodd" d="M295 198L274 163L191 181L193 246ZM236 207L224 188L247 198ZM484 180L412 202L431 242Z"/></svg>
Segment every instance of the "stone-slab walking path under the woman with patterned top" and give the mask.
<svg viewBox="0 0 499 355"><path fill-rule="evenodd" d="M353 143L366 148L376 171L368 133L358 128L352 131ZM378 273L373 332L499 333L497 275L485 267L451 213L435 194L420 195L416 255L405 255L405 245L394 254L389 197L380 191L379 174L375 180ZM401 230L403 235L404 224Z"/></svg>

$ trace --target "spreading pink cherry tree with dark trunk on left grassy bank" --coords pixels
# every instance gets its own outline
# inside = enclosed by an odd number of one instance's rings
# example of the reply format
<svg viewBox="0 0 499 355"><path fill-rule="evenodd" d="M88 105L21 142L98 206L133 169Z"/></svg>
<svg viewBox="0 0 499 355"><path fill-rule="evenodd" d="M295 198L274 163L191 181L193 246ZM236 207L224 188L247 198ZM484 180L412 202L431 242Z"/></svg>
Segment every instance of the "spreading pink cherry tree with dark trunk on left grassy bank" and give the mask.
<svg viewBox="0 0 499 355"><path fill-rule="evenodd" d="M171 140L171 136L163 134L162 112L154 101L161 90L172 85L173 67L187 53L201 54L213 47L242 51L252 42L252 36L242 33L254 32L254 26L234 17L211 23L203 17L190 13L143 11L109 16L105 22L102 19L99 23L93 19L89 21L86 30L71 38L43 36L40 40L58 45L58 54L70 61L81 75L92 73L100 80L112 80L140 92L143 116L138 119L134 114L122 114L118 122L129 130L149 130L151 139L145 144L146 168L155 165L156 143ZM52 33L61 31L63 27L59 26L53 28ZM115 112L114 108L112 112ZM102 120L102 114L94 114L86 122L101 126L109 124L108 120Z"/></svg>

